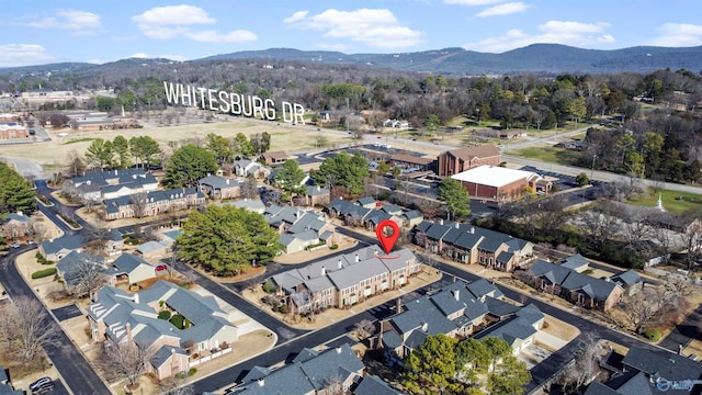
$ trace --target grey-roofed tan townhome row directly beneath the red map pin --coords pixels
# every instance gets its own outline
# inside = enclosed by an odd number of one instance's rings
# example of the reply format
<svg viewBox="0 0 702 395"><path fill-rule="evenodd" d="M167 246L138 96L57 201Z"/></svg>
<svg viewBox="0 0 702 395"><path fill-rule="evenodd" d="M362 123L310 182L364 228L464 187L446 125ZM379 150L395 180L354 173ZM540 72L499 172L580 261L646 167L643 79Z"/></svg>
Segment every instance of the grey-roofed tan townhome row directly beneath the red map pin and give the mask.
<svg viewBox="0 0 702 395"><path fill-rule="evenodd" d="M410 250L403 248L385 256L373 246L281 272L267 281L286 298L291 312L306 313L350 307L407 284L420 271L421 264Z"/></svg>

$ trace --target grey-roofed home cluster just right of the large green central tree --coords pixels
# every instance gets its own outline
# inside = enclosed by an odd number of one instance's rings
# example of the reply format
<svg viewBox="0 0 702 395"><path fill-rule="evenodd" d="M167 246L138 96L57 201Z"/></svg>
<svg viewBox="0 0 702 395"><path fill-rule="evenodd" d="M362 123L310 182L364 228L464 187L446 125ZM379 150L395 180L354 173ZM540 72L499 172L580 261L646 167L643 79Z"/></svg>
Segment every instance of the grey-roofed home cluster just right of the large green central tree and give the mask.
<svg viewBox="0 0 702 395"><path fill-rule="evenodd" d="M327 221L324 213L271 205L265 208L263 217L281 235L279 242L285 253L336 244L336 226Z"/></svg>

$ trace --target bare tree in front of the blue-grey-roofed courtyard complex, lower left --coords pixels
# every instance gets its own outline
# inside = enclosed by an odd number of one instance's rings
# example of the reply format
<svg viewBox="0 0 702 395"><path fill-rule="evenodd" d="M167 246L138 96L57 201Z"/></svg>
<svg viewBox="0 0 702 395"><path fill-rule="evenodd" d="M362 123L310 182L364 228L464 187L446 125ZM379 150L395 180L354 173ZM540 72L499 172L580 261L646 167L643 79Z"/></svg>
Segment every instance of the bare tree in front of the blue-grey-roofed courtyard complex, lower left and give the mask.
<svg viewBox="0 0 702 395"><path fill-rule="evenodd" d="M105 372L125 379L129 386L135 387L141 374L146 373L151 356L151 351L129 339L123 342L107 339L103 343L99 363Z"/></svg>

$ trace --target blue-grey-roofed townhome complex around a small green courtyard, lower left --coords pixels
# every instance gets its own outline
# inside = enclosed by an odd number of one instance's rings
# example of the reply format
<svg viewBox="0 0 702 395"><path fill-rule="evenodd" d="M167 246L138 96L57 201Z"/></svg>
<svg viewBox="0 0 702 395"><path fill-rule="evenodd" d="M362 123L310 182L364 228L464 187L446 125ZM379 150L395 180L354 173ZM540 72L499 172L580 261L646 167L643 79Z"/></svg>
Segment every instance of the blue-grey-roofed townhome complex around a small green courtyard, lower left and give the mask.
<svg viewBox="0 0 702 395"><path fill-rule="evenodd" d="M133 294L103 286L88 308L93 341L133 342L148 350L149 372L159 380L231 352L238 340L231 319L213 296L168 281Z"/></svg>

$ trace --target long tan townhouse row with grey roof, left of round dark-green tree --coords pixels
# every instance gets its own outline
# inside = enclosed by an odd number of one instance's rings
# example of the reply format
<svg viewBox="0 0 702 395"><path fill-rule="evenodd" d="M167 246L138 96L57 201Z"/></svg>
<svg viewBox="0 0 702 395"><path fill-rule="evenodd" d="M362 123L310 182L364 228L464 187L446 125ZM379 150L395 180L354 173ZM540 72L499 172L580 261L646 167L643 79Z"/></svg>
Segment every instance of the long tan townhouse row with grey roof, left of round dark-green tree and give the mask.
<svg viewBox="0 0 702 395"><path fill-rule="evenodd" d="M205 203L205 195L194 188L176 188L109 199L103 202L105 219L147 217L196 207Z"/></svg>

